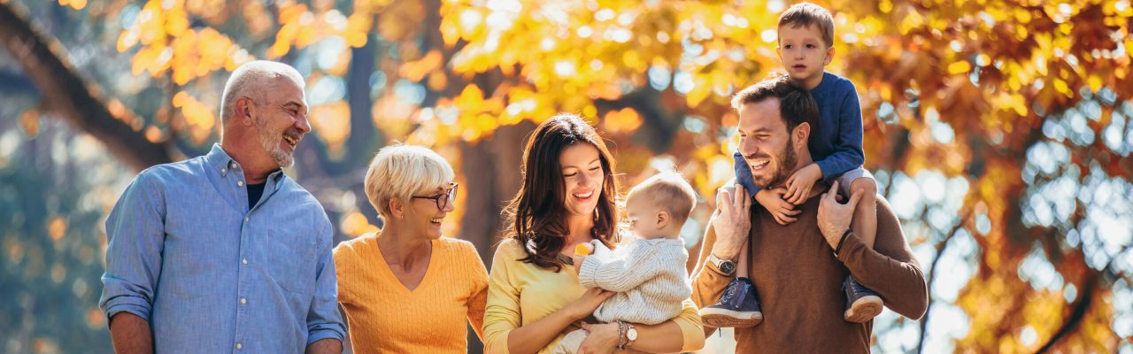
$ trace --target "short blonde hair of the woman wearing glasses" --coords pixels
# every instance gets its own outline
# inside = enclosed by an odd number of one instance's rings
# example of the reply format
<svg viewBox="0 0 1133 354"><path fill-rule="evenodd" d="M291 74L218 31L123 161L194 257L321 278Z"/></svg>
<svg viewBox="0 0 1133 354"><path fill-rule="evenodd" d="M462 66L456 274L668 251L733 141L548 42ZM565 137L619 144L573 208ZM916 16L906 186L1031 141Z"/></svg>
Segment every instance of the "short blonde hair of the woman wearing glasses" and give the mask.
<svg viewBox="0 0 1133 354"><path fill-rule="evenodd" d="M452 182L454 174L433 150L397 144L377 151L366 171L366 197L383 218L391 214L390 201L408 201L414 194L432 192Z"/></svg>

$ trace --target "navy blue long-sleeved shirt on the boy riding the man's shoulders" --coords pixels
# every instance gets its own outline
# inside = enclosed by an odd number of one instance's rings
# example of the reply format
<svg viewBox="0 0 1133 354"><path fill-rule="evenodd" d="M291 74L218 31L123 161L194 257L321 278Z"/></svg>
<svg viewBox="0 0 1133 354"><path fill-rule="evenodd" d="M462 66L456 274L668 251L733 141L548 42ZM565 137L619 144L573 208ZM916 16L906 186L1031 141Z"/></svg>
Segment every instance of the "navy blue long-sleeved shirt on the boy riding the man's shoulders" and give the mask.
<svg viewBox="0 0 1133 354"><path fill-rule="evenodd" d="M810 127L807 148L823 170L823 180L832 182L866 163L866 153L861 148L863 128L858 88L845 77L823 73L823 82L810 94L818 103L818 124ZM761 188L752 180L751 168L743 160L743 154L736 150L732 158L736 182L755 196Z"/></svg>

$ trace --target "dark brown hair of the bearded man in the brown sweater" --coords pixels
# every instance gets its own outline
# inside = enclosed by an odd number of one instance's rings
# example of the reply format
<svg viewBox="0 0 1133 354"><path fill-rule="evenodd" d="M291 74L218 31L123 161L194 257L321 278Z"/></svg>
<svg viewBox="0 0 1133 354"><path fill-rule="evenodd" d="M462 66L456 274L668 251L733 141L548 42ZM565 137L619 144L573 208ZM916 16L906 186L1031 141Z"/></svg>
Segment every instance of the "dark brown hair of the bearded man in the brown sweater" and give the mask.
<svg viewBox="0 0 1133 354"><path fill-rule="evenodd" d="M818 103L815 98L810 95L810 91L802 88L785 75L740 90L732 96L732 108L739 110L744 104L759 103L772 98L780 101L780 116L786 123L787 133L803 123L810 124L811 132L818 128Z"/></svg>

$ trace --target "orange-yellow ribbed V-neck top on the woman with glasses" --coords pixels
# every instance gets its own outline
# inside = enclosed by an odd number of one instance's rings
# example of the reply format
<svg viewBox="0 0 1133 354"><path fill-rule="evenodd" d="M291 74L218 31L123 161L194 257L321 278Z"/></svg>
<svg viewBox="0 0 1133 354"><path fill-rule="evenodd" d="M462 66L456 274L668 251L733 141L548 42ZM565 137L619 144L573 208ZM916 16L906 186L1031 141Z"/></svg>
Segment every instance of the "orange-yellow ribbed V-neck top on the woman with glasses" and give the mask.
<svg viewBox="0 0 1133 354"><path fill-rule="evenodd" d="M425 277L409 290L377 247L380 233L334 247L339 304L355 353L467 353L468 327L483 338L487 269L467 241L433 241Z"/></svg>

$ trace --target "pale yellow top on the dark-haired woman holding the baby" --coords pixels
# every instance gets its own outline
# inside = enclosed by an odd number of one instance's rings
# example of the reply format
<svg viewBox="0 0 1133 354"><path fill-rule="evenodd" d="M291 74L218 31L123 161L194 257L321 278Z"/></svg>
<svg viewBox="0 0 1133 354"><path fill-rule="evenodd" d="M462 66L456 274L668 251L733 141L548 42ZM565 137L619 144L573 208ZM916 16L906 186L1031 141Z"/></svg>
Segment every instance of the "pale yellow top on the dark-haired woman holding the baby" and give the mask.
<svg viewBox="0 0 1133 354"><path fill-rule="evenodd" d="M488 304L484 311L485 353L508 353L508 335L512 329L538 321L562 309L586 292L578 283L574 270L564 267L555 272L519 260L527 256L519 242L505 239L496 248L488 277ZM671 321L681 327L684 344L681 352L704 346L705 331L700 312L692 300L684 300L681 314ZM578 329L572 324L551 340L539 353L551 353L568 332Z"/></svg>

